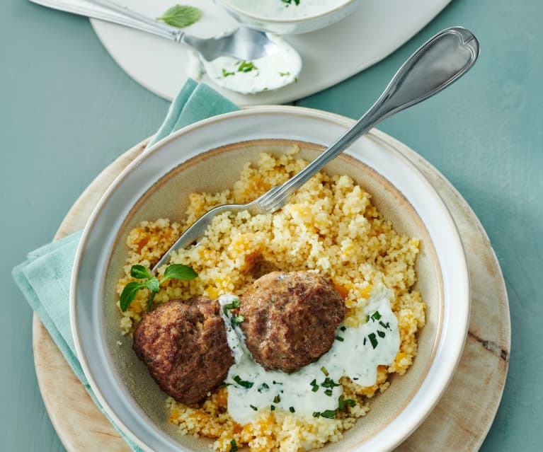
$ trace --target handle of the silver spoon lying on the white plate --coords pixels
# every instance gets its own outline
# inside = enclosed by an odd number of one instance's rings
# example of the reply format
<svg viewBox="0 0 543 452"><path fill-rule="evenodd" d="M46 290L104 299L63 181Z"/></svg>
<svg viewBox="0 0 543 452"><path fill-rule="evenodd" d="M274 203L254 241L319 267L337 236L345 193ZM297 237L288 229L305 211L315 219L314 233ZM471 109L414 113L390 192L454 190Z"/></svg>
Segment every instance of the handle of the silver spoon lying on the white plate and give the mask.
<svg viewBox="0 0 543 452"><path fill-rule="evenodd" d="M136 30L146 31L160 37L166 37L174 41L181 41L185 33L176 28L172 28L164 23L159 23L152 18L142 14L130 11L109 0L30 0L33 3L42 6L48 6L60 11L79 14L80 16L100 19L124 25L125 27L135 28Z"/></svg>

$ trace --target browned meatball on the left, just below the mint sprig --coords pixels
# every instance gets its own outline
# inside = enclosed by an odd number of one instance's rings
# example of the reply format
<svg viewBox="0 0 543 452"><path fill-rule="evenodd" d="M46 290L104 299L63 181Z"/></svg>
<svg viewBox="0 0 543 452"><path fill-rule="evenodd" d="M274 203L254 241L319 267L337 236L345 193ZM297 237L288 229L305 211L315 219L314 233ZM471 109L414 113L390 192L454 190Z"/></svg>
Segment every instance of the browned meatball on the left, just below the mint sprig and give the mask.
<svg viewBox="0 0 543 452"><path fill-rule="evenodd" d="M200 402L234 364L219 309L205 296L168 301L144 315L134 331L137 357L178 402Z"/></svg>

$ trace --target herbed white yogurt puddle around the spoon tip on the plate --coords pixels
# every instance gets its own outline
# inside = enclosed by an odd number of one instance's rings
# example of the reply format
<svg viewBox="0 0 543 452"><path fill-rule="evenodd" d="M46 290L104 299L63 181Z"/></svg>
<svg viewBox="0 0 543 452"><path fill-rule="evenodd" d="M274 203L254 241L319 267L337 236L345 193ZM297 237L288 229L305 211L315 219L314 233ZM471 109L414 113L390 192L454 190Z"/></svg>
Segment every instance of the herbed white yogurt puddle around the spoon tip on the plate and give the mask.
<svg viewBox="0 0 543 452"><path fill-rule="evenodd" d="M277 53L250 62L232 57L219 57L212 62L200 58L207 75L222 88L243 94L271 91L296 82L302 70L298 52L282 37L268 37L278 46Z"/></svg>

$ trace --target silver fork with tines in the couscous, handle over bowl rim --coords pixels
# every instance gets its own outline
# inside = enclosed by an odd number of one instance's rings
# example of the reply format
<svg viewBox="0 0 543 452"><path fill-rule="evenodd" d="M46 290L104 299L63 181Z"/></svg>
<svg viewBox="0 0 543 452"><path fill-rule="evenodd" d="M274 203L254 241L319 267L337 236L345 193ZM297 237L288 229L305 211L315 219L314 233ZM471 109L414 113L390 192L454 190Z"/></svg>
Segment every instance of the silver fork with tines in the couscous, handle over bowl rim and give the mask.
<svg viewBox="0 0 543 452"><path fill-rule="evenodd" d="M203 236L217 214L243 210L248 210L251 214L268 214L280 209L293 192L302 187L326 163L347 149L353 141L387 117L428 99L449 86L473 66L478 56L479 42L465 28L452 27L438 33L408 58L370 110L318 158L287 182L273 187L253 202L225 204L208 211L166 251L153 267L153 271L168 262L172 251L185 248Z"/></svg>

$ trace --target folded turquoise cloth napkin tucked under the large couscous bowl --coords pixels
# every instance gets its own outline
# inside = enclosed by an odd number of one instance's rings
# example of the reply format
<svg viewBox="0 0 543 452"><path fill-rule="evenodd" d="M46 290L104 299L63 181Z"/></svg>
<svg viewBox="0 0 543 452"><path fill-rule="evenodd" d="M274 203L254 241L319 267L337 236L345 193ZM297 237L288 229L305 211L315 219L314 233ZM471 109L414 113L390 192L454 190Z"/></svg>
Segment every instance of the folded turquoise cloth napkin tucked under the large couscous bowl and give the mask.
<svg viewBox="0 0 543 452"><path fill-rule="evenodd" d="M239 110L236 105L209 86L189 79L171 103L164 123L147 147L188 124L235 110ZM81 231L28 253L27 260L15 267L12 274L28 304L45 325L76 376L108 417L96 400L81 369L70 329L69 286L79 238ZM133 451L142 450L109 420Z"/></svg>

